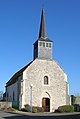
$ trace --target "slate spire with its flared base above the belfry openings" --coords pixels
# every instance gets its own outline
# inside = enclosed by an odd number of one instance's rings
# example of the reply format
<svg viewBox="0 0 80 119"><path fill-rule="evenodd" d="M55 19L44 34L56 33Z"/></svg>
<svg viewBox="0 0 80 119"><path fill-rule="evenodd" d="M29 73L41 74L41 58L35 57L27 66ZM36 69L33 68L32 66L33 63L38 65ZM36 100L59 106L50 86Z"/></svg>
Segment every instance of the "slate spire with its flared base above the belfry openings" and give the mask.
<svg viewBox="0 0 80 119"><path fill-rule="evenodd" d="M40 23L40 30L39 30L39 37L38 40L42 41L50 41L49 38L47 37L47 32L46 32L46 21L45 21L45 13L44 9L42 9L42 14L41 14L41 23Z"/></svg>

